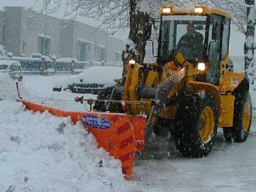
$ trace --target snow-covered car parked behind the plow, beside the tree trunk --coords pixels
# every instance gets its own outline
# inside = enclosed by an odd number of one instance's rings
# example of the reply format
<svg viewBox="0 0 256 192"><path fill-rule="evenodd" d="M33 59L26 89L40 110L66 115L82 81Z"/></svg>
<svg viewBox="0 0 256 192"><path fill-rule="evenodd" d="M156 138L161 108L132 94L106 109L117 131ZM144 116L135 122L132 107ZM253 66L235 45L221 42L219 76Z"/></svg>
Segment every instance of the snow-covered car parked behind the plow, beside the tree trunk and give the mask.
<svg viewBox="0 0 256 192"><path fill-rule="evenodd" d="M121 78L121 74L121 67L92 66L78 75L55 82L53 91L98 94L100 90L115 85L114 79Z"/></svg>

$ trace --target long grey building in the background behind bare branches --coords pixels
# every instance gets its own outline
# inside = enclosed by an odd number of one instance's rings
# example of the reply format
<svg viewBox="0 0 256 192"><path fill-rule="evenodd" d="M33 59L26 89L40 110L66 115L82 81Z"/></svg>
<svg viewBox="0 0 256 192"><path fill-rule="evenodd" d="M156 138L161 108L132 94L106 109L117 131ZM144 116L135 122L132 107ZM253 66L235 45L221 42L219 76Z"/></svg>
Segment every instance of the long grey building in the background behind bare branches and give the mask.
<svg viewBox="0 0 256 192"><path fill-rule="evenodd" d="M83 23L75 21L66 27L63 23L23 7L4 7L0 11L0 44L18 56L42 53L51 58L121 62L122 40Z"/></svg>

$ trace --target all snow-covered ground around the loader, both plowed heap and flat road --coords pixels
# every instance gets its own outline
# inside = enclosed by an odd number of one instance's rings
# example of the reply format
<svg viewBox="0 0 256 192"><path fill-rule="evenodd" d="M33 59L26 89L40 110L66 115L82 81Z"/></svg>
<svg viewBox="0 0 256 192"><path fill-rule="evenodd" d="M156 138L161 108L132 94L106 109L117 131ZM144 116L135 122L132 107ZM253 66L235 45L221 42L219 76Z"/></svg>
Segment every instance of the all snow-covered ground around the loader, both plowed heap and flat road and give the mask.
<svg viewBox="0 0 256 192"><path fill-rule="evenodd" d="M52 92L54 81L62 78L25 76L20 92L24 99L60 109L85 110L73 101L79 94ZM94 137L80 123L74 126L69 118L24 111L13 100L15 84L2 79L0 191L256 191L254 121L252 134L241 144L225 144L219 131L206 158L183 158L173 145L165 150L165 140L156 139L144 158L136 159L126 181L120 162L97 150ZM90 97L95 96L86 95Z"/></svg>

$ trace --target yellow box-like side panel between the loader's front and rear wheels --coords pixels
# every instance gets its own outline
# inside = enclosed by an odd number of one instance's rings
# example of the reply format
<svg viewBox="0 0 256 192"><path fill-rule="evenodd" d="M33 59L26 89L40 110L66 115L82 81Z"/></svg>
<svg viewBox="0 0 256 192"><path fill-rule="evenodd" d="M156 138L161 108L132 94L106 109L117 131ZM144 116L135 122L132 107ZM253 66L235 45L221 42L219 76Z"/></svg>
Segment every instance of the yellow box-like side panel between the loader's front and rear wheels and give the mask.
<svg viewBox="0 0 256 192"><path fill-rule="evenodd" d="M232 127L235 97L228 93L221 95L220 99L222 101L222 113L219 117L219 127Z"/></svg>

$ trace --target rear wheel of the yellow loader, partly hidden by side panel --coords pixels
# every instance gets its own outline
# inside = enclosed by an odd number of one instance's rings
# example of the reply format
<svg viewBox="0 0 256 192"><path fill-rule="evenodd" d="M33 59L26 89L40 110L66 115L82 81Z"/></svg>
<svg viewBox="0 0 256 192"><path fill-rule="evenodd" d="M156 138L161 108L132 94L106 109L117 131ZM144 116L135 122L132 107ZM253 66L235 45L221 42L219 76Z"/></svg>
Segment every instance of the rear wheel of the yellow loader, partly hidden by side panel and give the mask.
<svg viewBox="0 0 256 192"><path fill-rule="evenodd" d="M252 123L252 99L249 91L239 91L235 94L233 127L223 128L227 142L244 142Z"/></svg>

